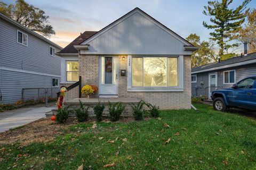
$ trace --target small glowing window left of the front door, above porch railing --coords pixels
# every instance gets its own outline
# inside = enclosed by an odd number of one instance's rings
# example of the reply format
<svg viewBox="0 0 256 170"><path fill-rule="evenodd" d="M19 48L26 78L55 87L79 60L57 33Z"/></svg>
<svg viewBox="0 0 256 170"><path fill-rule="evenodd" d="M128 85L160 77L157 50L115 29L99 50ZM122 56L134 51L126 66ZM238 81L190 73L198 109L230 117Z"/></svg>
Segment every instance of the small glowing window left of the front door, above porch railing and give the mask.
<svg viewBox="0 0 256 170"><path fill-rule="evenodd" d="M67 61L67 81L78 81L78 61Z"/></svg>

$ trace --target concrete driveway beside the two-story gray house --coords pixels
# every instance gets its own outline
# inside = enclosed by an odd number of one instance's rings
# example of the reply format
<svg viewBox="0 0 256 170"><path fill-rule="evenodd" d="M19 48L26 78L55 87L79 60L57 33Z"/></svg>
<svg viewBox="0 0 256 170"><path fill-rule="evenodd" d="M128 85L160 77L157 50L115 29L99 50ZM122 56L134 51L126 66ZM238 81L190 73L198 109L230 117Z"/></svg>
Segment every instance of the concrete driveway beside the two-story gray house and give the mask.
<svg viewBox="0 0 256 170"><path fill-rule="evenodd" d="M17 128L45 117L46 112L50 112L54 106L43 107L42 105L15 109L0 113L0 132L11 128Z"/></svg>

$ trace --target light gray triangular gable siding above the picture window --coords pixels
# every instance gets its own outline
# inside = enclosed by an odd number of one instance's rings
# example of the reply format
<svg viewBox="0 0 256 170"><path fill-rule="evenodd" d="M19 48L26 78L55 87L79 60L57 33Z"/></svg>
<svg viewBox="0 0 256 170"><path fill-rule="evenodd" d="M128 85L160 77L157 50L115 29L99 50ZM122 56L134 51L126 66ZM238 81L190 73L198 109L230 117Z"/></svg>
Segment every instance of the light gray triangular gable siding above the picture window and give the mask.
<svg viewBox="0 0 256 170"><path fill-rule="evenodd" d="M85 54L191 55L184 43L139 12L82 44L90 45Z"/></svg>

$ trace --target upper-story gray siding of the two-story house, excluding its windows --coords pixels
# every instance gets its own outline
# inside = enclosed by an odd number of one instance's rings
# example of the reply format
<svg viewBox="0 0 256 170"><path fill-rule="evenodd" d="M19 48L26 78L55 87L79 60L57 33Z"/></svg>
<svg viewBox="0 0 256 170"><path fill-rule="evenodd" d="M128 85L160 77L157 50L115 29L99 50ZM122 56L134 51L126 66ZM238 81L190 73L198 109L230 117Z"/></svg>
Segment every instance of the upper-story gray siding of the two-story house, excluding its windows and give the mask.
<svg viewBox="0 0 256 170"><path fill-rule="evenodd" d="M0 66L60 75L61 59L50 56L50 44L20 29L28 34L28 46L18 44L17 29L0 19Z"/></svg>

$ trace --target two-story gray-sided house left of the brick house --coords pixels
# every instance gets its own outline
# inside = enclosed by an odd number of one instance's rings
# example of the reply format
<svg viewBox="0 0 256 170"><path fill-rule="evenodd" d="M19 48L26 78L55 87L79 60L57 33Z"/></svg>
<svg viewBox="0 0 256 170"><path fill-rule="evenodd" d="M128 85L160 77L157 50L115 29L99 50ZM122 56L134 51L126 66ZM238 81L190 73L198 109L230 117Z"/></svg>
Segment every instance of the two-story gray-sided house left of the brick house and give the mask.
<svg viewBox="0 0 256 170"><path fill-rule="evenodd" d="M0 39L0 103L21 100L22 88L47 88L48 96L59 91L60 46L1 13ZM38 97L35 89L24 93L26 99Z"/></svg>

